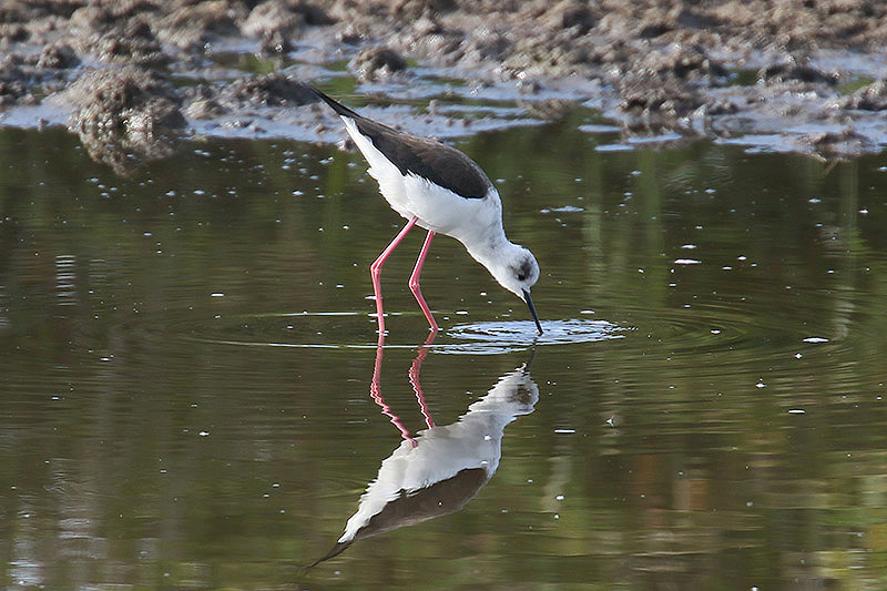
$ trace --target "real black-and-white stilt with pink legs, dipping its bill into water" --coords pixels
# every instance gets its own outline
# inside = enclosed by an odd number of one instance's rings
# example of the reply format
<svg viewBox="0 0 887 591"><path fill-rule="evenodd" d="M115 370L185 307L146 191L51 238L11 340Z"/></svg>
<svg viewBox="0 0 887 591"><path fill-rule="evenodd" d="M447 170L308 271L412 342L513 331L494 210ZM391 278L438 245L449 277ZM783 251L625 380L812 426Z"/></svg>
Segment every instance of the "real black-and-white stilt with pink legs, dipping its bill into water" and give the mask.
<svg viewBox="0 0 887 591"><path fill-rule="evenodd" d="M333 108L345 122L345 130L369 163L369 174L394 211L407 220L404 230L370 266L379 340L385 337L381 304L381 266L418 225L428 231L409 288L428 319L432 333L438 325L419 287L419 275L435 234L461 242L468 254L499 284L527 303L539 334L542 325L536 314L530 287L539 279L539 264L530 251L511 243L502 228L502 202L493 184L470 157L438 141L399 132L357 114L319 90L308 88Z"/></svg>

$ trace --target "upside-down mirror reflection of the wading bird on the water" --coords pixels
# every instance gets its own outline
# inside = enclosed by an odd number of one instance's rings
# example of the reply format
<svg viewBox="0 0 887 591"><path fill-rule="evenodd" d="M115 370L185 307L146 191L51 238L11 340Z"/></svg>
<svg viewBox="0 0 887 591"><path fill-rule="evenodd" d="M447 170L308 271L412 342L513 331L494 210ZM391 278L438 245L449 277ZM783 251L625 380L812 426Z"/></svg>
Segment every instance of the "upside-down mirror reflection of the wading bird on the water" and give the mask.
<svg viewBox="0 0 887 591"><path fill-rule="evenodd" d="M404 440L383 460L376 479L360 497L357 512L348 519L336 544L309 568L340 554L357 540L465 507L499 467L506 426L518 416L533 411L539 388L530 377L531 355L526 364L499 378L456 422L435 426L419 381L419 370L434 338L431 335L419 349L409 370L410 384L428 426L416 435L404 427L381 396L383 346L379 343L370 395Z"/></svg>

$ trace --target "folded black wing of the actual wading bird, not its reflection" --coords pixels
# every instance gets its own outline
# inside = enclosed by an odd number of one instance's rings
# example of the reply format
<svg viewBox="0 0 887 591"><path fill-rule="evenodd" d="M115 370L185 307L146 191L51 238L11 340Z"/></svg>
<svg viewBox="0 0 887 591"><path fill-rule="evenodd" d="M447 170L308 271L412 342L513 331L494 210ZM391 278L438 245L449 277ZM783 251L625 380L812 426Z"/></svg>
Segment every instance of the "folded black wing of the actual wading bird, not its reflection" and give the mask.
<svg viewBox="0 0 887 591"><path fill-rule="evenodd" d="M412 173L428 179L465 198L482 198L492 186L480 166L455 147L383 125L359 115L314 86L308 88L336 113L353 119L357 131L369 137L400 174Z"/></svg>

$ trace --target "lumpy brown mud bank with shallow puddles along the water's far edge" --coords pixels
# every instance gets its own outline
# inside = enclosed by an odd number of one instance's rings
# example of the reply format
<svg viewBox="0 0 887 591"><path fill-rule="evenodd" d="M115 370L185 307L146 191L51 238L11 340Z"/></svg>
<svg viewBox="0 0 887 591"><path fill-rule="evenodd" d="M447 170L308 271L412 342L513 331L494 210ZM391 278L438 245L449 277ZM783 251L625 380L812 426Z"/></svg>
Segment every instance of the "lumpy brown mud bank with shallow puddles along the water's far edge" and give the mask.
<svg viewBox="0 0 887 591"><path fill-rule="evenodd" d="M581 104L623 140L852 157L887 143L886 47L887 6L866 0L7 2L0 124L65 123L120 171L190 133L334 141L329 114L303 106L313 80L383 105L434 99L370 112L416 133ZM490 108L447 108L466 96Z"/></svg>

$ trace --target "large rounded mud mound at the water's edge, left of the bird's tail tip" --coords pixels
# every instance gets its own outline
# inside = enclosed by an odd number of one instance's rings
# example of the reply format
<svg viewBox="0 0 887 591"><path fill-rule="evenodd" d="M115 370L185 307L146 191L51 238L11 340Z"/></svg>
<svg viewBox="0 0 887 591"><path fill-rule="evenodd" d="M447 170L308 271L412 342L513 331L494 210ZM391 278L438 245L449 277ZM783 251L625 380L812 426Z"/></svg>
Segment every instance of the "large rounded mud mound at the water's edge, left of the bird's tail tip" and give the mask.
<svg viewBox="0 0 887 591"><path fill-rule="evenodd" d="M54 100L93 160L129 175L142 162L172 155L186 122L173 86L136 67L94 70Z"/></svg>

